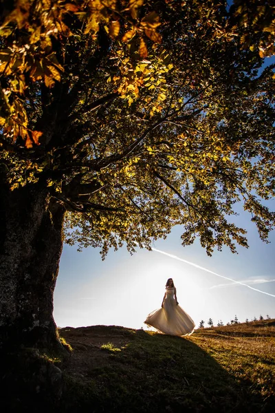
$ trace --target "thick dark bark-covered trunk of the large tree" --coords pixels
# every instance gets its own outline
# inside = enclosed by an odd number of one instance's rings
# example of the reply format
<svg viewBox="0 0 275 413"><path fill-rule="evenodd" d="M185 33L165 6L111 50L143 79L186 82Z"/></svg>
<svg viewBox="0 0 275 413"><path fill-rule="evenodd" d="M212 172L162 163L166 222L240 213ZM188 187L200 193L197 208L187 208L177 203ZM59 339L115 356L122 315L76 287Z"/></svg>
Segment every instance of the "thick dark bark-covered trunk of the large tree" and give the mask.
<svg viewBox="0 0 275 413"><path fill-rule="evenodd" d="M0 346L61 348L52 316L64 207L40 182L0 187Z"/></svg>

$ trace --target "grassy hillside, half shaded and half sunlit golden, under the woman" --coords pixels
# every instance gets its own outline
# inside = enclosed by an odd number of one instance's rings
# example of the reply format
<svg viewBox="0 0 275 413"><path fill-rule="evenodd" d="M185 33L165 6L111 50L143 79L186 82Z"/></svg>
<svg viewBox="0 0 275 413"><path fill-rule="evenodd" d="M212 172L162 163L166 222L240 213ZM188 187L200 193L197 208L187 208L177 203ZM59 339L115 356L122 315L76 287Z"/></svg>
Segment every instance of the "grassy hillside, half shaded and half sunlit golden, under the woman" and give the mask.
<svg viewBox="0 0 275 413"><path fill-rule="evenodd" d="M275 412L275 320L190 337L118 326L62 328L59 412Z"/></svg>

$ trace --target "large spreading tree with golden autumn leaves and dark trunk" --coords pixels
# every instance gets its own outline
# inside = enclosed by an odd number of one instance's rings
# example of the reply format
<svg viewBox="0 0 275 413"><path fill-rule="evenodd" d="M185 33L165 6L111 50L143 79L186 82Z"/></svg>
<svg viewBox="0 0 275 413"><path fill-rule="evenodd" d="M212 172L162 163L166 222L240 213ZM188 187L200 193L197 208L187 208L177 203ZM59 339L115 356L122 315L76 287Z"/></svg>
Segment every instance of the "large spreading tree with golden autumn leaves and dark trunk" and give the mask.
<svg viewBox="0 0 275 413"><path fill-rule="evenodd" d="M234 252L236 202L267 240L274 36L256 3L1 1L2 345L57 345L64 240L104 256L181 225L184 246Z"/></svg>

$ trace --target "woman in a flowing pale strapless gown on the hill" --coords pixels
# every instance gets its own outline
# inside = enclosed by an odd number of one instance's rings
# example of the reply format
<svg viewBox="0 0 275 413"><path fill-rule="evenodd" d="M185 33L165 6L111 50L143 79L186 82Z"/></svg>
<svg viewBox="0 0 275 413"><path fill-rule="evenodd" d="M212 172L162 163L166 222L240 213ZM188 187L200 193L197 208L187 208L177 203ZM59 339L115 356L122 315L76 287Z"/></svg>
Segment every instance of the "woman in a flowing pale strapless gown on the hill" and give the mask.
<svg viewBox="0 0 275 413"><path fill-rule="evenodd" d="M177 302L177 290L172 278L166 282L162 308L150 313L144 323L168 335L190 335L194 331L194 321Z"/></svg>

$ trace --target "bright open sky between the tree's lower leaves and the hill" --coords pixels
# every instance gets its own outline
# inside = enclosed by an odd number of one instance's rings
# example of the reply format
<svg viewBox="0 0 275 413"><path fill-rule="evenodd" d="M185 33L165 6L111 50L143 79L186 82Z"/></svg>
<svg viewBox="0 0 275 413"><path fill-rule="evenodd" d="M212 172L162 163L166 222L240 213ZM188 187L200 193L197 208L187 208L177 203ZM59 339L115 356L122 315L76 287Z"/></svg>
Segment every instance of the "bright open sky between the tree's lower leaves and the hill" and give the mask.
<svg viewBox="0 0 275 413"><path fill-rule="evenodd" d="M270 205L274 210L275 202ZM153 247L275 296L274 231L270 244L265 244L248 213L240 213L236 224L248 230L250 244L248 249L239 247L238 255L224 248L208 257L199 240L182 247L180 227L175 227L166 240L155 242ZM267 314L275 318L275 297L163 253L139 249L131 256L126 248L120 248L110 251L102 261L97 248L78 253L76 246L65 245L54 295L56 324L146 328L143 321L148 313L160 307L168 277L174 279L180 306L197 326L201 319L208 321L209 317L214 324L219 319L225 324L235 315L240 321Z"/></svg>

